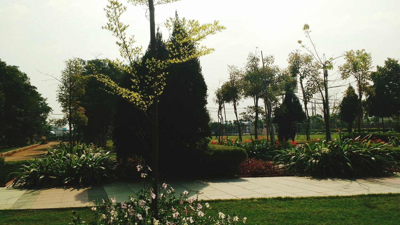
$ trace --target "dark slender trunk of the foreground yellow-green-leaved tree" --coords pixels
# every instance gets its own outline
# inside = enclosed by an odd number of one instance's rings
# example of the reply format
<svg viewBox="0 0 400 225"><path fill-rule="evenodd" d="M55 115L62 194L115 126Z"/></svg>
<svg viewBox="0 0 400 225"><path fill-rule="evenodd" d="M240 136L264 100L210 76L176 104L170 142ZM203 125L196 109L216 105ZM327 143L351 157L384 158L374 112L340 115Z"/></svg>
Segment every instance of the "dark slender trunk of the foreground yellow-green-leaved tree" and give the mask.
<svg viewBox="0 0 400 225"><path fill-rule="evenodd" d="M154 2L148 0L149 15L150 15L150 58L157 58L156 49L156 25L154 20ZM158 77L157 71L152 72L154 82ZM152 199L151 208L153 216L158 219L158 95L153 98L151 107L151 139L152 139L152 177L153 177L153 193L156 195Z"/></svg>

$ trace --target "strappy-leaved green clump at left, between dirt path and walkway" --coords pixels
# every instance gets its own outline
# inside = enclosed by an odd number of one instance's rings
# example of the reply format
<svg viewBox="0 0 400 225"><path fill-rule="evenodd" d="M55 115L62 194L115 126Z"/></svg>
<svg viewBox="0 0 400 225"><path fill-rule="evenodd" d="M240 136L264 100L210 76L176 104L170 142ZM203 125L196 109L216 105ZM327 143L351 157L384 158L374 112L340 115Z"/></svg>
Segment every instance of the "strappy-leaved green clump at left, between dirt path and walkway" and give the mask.
<svg viewBox="0 0 400 225"><path fill-rule="evenodd" d="M94 185L114 179L114 155L94 145L60 143L43 158L22 165L13 185L53 187L56 185Z"/></svg>

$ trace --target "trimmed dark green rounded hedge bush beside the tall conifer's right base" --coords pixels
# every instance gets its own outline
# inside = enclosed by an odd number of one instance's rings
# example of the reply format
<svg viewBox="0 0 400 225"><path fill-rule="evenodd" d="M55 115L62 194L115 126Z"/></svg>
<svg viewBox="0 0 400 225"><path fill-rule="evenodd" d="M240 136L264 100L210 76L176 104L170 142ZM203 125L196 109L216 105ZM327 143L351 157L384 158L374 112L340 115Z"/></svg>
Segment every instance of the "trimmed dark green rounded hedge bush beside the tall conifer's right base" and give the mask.
<svg viewBox="0 0 400 225"><path fill-rule="evenodd" d="M239 165L248 157L246 150L224 145L209 145L206 151L208 169L213 175L238 175Z"/></svg>

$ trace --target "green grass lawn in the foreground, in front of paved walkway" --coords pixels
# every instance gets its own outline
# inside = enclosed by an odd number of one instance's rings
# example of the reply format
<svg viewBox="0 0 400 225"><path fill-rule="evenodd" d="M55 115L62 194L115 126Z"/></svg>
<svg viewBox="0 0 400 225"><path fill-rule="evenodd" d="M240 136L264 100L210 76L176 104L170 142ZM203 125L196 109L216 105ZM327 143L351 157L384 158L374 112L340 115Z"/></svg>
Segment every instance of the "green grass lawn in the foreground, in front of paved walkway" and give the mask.
<svg viewBox="0 0 400 225"><path fill-rule="evenodd" d="M334 197L268 198L209 201L210 214L219 211L247 217L248 225L282 224L393 224L399 223L400 194ZM66 225L72 209L0 210L0 225ZM91 220L90 208L75 208Z"/></svg>

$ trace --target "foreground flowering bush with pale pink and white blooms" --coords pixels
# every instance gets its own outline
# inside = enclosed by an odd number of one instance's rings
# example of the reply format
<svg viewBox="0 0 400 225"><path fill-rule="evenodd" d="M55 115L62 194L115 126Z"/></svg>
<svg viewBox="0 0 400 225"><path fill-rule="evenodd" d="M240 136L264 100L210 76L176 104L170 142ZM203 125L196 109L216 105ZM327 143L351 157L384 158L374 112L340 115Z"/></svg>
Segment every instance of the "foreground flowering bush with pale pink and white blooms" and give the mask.
<svg viewBox="0 0 400 225"><path fill-rule="evenodd" d="M143 167L138 166L138 170ZM150 168L148 168L150 170ZM146 174L146 172L142 172ZM246 217L239 218L218 213L218 217L208 215L211 205L198 199L198 193L184 191L175 197L175 190L166 183L158 187L158 219L153 217L150 203L157 196L152 188L146 188L136 193L136 197L129 197L129 201L118 202L117 199L93 200L96 206L92 207L95 220L90 225L229 225L246 223ZM70 225L85 224L79 215L73 212L73 221Z"/></svg>

